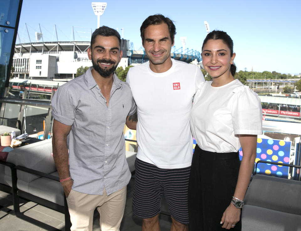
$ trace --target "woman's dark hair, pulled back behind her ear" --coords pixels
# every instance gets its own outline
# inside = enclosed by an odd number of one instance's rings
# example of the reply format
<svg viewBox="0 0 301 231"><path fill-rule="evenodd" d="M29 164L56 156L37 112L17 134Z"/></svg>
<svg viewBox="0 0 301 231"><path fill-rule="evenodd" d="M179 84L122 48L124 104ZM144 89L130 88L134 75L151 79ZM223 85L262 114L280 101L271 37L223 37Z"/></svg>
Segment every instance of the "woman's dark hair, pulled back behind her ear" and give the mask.
<svg viewBox="0 0 301 231"><path fill-rule="evenodd" d="M204 45L208 42L209 39L217 40L221 39L223 40L224 44L228 46L230 49L230 55L232 56L233 54L233 40L232 38L224 31L221 30L213 30L209 34L207 34L206 38L204 39L203 46L202 46L202 52L203 52L203 47ZM235 64L231 64L230 71L232 76L235 75L236 73L236 66Z"/></svg>

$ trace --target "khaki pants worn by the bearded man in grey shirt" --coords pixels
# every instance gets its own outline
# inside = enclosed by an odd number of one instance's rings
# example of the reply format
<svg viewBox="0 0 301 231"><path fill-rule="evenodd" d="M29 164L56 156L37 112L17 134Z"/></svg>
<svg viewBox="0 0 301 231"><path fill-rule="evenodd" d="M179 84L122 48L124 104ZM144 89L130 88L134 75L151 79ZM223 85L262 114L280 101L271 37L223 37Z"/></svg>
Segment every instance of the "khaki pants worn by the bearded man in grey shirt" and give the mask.
<svg viewBox="0 0 301 231"><path fill-rule="evenodd" d="M103 195L90 195L71 190L68 198L68 208L71 219L71 231L92 231L93 213L97 208L100 215L102 231L118 231L124 213L126 201L126 186L107 196L105 188Z"/></svg>

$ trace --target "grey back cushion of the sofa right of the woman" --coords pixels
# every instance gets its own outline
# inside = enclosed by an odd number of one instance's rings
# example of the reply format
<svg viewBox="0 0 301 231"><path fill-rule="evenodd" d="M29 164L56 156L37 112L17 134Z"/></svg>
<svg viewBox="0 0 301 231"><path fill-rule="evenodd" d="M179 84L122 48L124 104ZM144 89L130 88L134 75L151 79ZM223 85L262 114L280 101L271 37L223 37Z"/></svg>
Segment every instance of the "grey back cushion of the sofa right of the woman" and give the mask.
<svg viewBox="0 0 301 231"><path fill-rule="evenodd" d="M301 215L301 182L256 174L246 192L248 205Z"/></svg>

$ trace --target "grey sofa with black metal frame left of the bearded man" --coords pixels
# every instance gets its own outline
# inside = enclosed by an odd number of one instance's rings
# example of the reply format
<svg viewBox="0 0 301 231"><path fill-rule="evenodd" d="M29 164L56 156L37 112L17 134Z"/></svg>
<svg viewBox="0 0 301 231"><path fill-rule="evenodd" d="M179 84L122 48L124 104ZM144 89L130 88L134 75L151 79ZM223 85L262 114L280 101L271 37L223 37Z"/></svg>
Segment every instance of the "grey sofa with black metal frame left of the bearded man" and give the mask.
<svg viewBox="0 0 301 231"><path fill-rule="evenodd" d="M52 140L43 140L18 147L8 153L6 162L0 164L0 184L11 187L14 212L17 217L42 228L55 230L20 213L18 198L22 197L46 207L65 213L66 230L70 228L70 217L61 183L52 157ZM126 152L131 172L135 170L136 153Z"/></svg>

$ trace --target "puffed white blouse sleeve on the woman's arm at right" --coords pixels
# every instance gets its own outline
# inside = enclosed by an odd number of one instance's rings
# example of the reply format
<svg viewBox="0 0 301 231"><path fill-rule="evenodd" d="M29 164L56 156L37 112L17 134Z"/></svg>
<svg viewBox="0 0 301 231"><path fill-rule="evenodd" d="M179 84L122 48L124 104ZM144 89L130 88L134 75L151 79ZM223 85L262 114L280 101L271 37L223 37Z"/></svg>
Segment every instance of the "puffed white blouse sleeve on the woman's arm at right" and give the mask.
<svg viewBox="0 0 301 231"><path fill-rule="evenodd" d="M262 109L258 95L247 86L233 90L232 122L235 135L261 135Z"/></svg>

